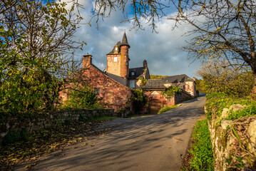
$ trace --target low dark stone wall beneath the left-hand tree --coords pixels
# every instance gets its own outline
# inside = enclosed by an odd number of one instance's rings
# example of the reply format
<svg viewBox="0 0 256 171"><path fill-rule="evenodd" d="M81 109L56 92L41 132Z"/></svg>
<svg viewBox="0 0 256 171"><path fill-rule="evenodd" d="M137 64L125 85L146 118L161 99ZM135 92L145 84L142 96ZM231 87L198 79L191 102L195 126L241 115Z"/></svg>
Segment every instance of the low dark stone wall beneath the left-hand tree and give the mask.
<svg viewBox="0 0 256 171"><path fill-rule="evenodd" d="M40 129L54 127L56 125L78 120L79 118L93 118L98 116L116 116L113 109L103 110L63 110L41 114L38 117L11 117L0 118L0 138L8 133L8 130L20 131L26 128L28 134L35 133Z"/></svg>

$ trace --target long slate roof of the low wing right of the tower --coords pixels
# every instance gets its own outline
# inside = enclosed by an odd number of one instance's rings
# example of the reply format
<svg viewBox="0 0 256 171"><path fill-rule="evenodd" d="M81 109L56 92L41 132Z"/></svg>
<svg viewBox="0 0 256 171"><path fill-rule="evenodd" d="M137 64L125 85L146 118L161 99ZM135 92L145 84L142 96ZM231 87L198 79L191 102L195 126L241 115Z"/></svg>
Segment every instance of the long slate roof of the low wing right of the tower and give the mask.
<svg viewBox="0 0 256 171"><path fill-rule="evenodd" d="M176 75L176 76L168 76L162 79L149 79L143 89L164 89L166 88L165 84L168 83L184 83L187 81L193 81L193 79L189 78L185 74Z"/></svg>

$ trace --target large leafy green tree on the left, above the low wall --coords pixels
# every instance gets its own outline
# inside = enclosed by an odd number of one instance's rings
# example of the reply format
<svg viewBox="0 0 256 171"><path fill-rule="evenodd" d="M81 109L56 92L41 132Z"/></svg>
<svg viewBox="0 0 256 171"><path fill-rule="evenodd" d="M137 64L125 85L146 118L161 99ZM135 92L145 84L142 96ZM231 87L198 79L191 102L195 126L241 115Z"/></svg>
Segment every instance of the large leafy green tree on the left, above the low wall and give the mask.
<svg viewBox="0 0 256 171"><path fill-rule="evenodd" d="M1 0L0 6L0 112L53 109L66 66L76 66L66 54L81 47L73 41L79 5Z"/></svg>

